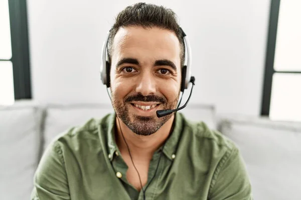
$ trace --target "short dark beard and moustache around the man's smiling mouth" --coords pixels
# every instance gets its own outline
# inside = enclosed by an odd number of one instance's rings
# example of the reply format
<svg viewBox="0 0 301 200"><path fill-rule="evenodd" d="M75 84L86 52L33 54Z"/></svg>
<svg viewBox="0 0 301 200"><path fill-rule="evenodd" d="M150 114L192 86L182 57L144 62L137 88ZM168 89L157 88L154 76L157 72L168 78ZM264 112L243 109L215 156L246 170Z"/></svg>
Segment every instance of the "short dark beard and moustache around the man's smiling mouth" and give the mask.
<svg viewBox="0 0 301 200"><path fill-rule="evenodd" d="M161 109L175 109L177 108L180 91L176 99L168 101L165 96L147 95L143 96L140 93L130 94L124 99L118 99L111 92L113 108L122 122L134 133L138 135L151 135L157 132L171 117L172 114L157 117L154 116L140 116L129 111L131 101L144 101L144 102L160 102ZM162 107L163 105L163 107Z"/></svg>

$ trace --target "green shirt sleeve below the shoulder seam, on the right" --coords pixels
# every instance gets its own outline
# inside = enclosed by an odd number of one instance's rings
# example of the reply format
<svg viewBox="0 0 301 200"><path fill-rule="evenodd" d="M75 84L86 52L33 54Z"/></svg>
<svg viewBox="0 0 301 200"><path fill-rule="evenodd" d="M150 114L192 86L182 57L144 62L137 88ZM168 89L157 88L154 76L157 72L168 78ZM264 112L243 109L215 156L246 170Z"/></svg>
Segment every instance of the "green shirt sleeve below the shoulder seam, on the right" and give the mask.
<svg viewBox="0 0 301 200"><path fill-rule="evenodd" d="M225 153L216 168L210 200L252 200L251 184L239 150Z"/></svg>

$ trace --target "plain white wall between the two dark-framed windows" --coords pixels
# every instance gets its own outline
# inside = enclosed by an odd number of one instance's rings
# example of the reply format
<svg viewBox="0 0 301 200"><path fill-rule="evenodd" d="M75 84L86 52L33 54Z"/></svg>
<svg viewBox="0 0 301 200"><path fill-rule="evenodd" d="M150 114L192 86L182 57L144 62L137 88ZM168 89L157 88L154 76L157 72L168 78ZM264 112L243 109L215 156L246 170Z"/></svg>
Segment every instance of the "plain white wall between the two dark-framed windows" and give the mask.
<svg viewBox="0 0 301 200"><path fill-rule="evenodd" d="M192 102L218 113L260 113L270 0L144 0L179 15L190 38ZM135 0L27 0L33 97L43 103L109 102L101 46Z"/></svg>

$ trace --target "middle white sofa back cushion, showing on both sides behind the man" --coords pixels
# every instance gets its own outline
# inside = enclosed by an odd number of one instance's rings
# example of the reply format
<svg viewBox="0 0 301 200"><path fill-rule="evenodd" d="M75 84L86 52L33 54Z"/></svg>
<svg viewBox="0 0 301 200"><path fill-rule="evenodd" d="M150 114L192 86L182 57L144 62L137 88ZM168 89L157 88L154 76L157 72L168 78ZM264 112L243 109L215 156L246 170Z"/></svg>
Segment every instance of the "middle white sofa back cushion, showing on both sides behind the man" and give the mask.
<svg viewBox="0 0 301 200"><path fill-rule="evenodd" d="M113 112L111 104L48 105L45 120L44 149L64 130L85 123L90 118L101 118ZM214 108L211 105L191 104L181 110L191 120L203 120L216 128Z"/></svg>

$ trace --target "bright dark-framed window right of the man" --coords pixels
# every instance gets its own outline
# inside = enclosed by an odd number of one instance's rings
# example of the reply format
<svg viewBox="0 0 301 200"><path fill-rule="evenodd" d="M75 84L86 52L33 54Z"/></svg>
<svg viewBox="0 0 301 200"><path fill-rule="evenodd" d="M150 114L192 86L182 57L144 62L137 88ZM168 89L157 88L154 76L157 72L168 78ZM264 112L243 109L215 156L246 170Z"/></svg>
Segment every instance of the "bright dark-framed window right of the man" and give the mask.
<svg viewBox="0 0 301 200"><path fill-rule="evenodd" d="M271 0L262 115L301 121L301 1Z"/></svg>

